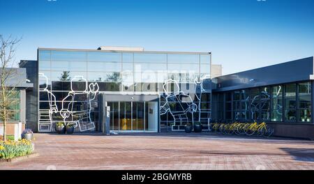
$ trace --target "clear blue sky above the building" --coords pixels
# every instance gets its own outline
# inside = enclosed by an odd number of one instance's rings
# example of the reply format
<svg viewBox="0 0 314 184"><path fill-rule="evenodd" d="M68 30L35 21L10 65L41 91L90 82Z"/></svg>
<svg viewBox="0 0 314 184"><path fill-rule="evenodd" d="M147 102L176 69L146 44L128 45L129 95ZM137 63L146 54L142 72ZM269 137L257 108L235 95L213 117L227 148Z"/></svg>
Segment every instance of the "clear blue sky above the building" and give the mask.
<svg viewBox="0 0 314 184"><path fill-rule="evenodd" d="M0 34L38 47L212 52L223 74L314 55L312 0L0 0Z"/></svg>

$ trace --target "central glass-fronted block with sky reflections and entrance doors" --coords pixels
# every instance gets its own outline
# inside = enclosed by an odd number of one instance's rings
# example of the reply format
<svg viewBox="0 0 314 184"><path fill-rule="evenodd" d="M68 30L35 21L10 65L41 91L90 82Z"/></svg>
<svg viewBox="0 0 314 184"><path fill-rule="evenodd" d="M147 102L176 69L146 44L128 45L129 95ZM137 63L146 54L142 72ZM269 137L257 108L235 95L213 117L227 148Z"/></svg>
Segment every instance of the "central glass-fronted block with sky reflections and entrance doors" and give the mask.
<svg viewBox="0 0 314 184"><path fill-rule="evenodd" d="M199 120L195 114L200 110L207 112L202 116L208 130L211 90L200 101L195 95L200 83L195 82L210 80L210 53L40 48L38 74L40 132L53 131L58 121L78 124L80 131L100 130L100 95L109 94L142 95L137 101L106 101L112 131L181 130L186 122ZM145 100L154 95L155 100Z"/></svg>

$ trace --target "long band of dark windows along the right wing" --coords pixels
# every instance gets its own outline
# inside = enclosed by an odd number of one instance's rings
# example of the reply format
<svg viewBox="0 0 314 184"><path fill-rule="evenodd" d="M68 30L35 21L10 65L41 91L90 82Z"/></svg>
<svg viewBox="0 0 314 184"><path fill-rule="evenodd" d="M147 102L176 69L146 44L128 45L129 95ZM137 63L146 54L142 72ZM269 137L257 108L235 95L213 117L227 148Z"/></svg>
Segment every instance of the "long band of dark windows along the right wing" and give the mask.
<svg viewBox="0 0 314 184"><path fill-rule="evenodd" d="M311 96L311 82L218 93L216 121L309 123Z"/></svg>

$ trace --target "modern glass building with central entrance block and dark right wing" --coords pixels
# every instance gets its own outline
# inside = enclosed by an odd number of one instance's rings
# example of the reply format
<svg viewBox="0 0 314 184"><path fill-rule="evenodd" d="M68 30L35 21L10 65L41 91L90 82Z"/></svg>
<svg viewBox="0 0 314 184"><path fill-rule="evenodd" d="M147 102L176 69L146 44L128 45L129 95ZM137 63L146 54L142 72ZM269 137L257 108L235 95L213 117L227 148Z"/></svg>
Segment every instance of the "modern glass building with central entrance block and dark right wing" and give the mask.
<svg viewBox="0 0 314 184"><path fill-rule="evenodd" d="M314 139L313 57L224 76L211 53L133 47L39 48L27 63L27 127L38 132L59 121L80 132L104 122L111 132L174 132L257 121L277 136Z"/></svg>

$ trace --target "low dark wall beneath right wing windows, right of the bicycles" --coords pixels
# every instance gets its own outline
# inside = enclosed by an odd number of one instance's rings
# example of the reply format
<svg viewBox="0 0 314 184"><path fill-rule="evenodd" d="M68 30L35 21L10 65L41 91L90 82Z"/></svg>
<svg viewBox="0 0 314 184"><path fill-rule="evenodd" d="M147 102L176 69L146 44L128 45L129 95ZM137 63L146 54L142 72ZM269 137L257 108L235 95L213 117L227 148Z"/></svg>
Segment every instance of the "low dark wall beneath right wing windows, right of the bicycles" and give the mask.
<svg viewBox="0 0 314 184"><path fill-rule="evenodd" d="M275 129L274 136L314 140L314 124L267 123Z"/></svg>

